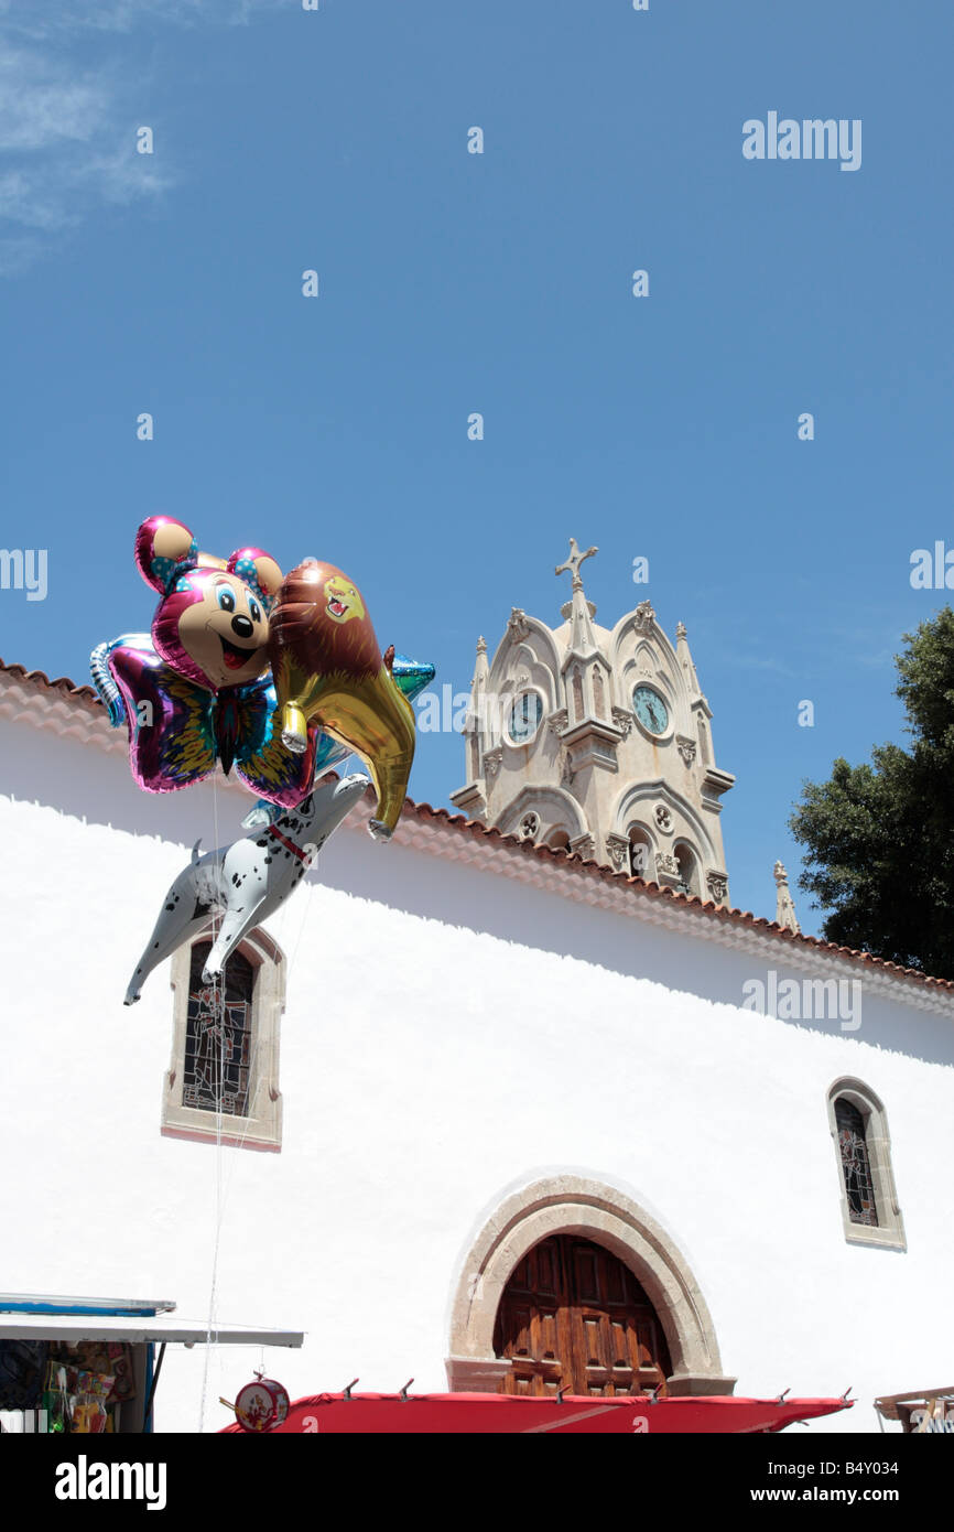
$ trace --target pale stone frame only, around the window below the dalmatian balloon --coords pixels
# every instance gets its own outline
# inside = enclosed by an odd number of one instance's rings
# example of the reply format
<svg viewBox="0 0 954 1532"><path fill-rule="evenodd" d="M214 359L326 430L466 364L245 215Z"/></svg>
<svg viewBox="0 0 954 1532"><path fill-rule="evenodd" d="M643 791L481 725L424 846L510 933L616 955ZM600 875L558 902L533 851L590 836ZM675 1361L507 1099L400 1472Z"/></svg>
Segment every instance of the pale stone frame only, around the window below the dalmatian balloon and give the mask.
<svg viewBox="0 0 954 1532"><path fill-rule="evenodd" d="M222 1143L236 1149L282 1149L282 1092L279 1091L279 1045L285 1010L285 953L262 927L251 931L236 951L254 968L251 997L253 1063L248 1085L250 1117L222 1115L222 1134L216 1132L216 1112L182 1105L182 1074L185 1069L185 1028L188 1011L188 977L193 948L210 939L202 931L172 959L170 988L173 991L173 1040L170 1066L162 1088L164 1138L190 1138L196 1143Z"/></svg>

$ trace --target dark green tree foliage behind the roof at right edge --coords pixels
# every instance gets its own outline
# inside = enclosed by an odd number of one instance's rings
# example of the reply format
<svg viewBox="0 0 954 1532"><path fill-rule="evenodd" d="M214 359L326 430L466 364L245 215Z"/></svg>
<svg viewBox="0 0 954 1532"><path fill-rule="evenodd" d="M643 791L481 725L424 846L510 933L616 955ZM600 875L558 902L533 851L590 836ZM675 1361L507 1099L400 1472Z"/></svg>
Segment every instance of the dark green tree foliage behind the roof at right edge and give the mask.
<svg viewBox="0 0 954 1532"><path fill-rule="evenodd" d="M805 847L799 885L831 912L828 941L954 979L954 611L903 637L910 748L836 760L789 823Z"/></svg>

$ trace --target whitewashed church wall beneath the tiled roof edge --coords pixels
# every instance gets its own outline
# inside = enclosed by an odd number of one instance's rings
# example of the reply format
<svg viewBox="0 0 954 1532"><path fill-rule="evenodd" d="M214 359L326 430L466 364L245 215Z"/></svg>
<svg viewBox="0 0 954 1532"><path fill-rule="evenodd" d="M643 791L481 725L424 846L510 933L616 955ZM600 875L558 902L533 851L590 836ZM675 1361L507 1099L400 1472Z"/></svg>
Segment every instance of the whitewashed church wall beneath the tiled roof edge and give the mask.
<svg viewBox="0 0 954 1532"><path fill-rule="evenodd" d="M219 840L248 798L217 791ZM168 965L123 1007L213 794L138 792L121 755L0 723L0 1111L8 1291L210 1305L305 1328L266 1370L296 1397L446 1388L449 1308L478 1227L522 1183L577 1172L681 1247L738 1394L876 1394L954 1370L942 1295L954 1026L865 994L864 1023L740 1008L752 958L387 847L346 827L270 930L289 958L282 1154L162 1138ZM773 953L786 951L770 948ZM772 959L781 973L776 958ZM845 1244L825 1092L884 1100L908 1252ZM159 1429L198 1429L198 1351L170 1350ZM207 1428L257 1353L216 1351Z"/></svg>

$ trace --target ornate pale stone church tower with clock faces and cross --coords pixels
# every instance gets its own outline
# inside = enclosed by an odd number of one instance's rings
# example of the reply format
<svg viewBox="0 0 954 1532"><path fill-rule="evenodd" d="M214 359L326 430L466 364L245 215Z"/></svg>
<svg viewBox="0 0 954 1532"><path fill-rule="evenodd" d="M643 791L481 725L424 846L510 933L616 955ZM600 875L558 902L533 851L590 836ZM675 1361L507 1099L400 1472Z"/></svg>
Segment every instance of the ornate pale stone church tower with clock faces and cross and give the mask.
<svg viewBox="0 0 954 1532"><path fill-rule="evenodd" d="M596 552L570 539L559 628L515 607L492 662L478 642L469 780L450 801L507 833L727 904L720 812L735 777L715 764L686 628L674 647L648 601L599 627L580 573Z"/></svg>

